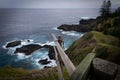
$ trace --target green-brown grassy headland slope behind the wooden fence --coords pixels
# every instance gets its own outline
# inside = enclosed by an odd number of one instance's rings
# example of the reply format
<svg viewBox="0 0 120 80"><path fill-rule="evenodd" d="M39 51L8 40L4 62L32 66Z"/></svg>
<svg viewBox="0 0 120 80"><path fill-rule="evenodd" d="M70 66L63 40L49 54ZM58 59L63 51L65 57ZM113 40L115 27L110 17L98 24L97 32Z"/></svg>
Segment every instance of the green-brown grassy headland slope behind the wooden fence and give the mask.
<svg viewBox="0 0 120 80"><path fill-rule="evenodd" d="M120 64L119 39L92 31L86 33L82 38L76 40L66 51L75 65L96 47L98 57Z"/></svg>

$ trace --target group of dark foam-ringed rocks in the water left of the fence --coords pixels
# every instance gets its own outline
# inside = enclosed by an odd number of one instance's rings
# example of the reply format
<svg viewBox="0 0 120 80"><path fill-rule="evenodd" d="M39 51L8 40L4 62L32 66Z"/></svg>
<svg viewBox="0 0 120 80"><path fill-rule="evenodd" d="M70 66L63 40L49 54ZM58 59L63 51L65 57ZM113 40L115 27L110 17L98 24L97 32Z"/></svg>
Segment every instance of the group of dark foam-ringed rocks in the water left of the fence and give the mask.
<svg viewBox="0 0 120 80"><path fill-rule="evenodd" d="M12 48L12 47L16 47L21 45L22 41L20 40L16 40L16 41L12 41L7 43L7 45L5 46L6 48ZM42 48L46 48L48 49L48 56L51 60L55 60L55 53L54 53L54 49L53 46L51 45L39 45L39 44L27 44L27 45L22 45L19 48L16 48L14 51L14 54L17 53L24 53L25 55L30 55L32 54L34 51L38 50L38 49L42 49ZM46 65L51 63L51 61L48 61L48 59L42 59L39 60L38 63L42 64L42 65Z"/></svg>

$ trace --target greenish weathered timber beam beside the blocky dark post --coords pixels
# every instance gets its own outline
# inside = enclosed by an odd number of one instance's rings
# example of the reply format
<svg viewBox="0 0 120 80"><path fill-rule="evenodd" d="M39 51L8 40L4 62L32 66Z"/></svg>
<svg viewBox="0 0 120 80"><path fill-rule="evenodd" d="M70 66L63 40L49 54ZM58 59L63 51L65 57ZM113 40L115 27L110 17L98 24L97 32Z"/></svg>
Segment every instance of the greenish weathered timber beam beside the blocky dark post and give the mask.
<svg viewBox="0 0 120 80"><path fill-rule="evenodd" d="M95 53L89 53L78 65L70 80L87 80L91 62L95 58Z"/></svg>

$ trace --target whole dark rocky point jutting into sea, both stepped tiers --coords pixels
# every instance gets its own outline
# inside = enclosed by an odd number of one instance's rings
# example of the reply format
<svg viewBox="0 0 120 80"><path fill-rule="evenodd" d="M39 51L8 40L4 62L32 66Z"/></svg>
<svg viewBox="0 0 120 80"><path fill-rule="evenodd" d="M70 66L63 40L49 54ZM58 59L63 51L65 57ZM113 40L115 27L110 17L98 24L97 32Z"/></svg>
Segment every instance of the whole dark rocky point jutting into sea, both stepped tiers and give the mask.
<svg viewBox="0 0 120 80"><path fill-rule="evenodd" d="M91 31L90 23L94 22L96 19L82 19L79 21L79 24L63 24L57 29L64 31L77 31L77 32L89 32Z"/></svg>

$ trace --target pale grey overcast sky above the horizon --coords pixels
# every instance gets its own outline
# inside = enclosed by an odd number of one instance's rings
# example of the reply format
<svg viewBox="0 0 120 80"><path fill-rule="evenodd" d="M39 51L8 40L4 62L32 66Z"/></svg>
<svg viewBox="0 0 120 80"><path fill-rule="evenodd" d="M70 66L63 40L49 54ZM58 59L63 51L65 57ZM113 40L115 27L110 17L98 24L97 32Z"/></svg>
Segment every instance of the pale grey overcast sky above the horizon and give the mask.
<svg viewBox="0 0 120 80"><path fill-rule="evenodd" d="M0 8L96 8L103 0L0 0ZM113 7L120 0L111 0Z"/></svg>

